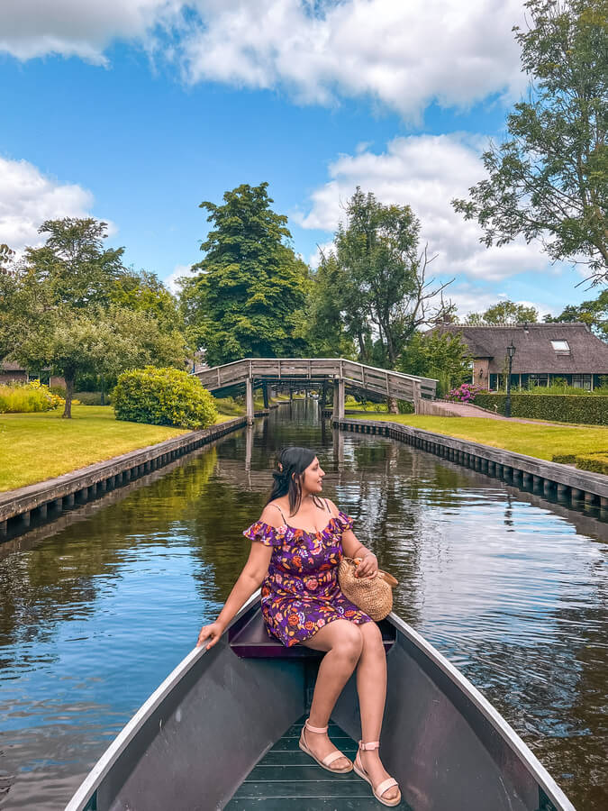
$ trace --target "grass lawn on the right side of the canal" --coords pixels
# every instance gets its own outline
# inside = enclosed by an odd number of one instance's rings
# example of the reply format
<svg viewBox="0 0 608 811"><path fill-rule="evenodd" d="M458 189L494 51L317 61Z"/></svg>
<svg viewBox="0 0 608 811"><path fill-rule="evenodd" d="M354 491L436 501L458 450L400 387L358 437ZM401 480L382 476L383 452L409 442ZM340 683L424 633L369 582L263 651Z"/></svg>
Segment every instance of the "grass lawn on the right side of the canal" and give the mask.
<svg viewBox="0 0 608 811"><path fill-rule="evenodd" d="M538 459L576 456L577 453L608 451L608 428L573 425L507 423L485 417L440 417L416 414L358 414L358 420L390 420L423 431L443 433L458 439L481 442L505 451L525 453Z"/></svg>

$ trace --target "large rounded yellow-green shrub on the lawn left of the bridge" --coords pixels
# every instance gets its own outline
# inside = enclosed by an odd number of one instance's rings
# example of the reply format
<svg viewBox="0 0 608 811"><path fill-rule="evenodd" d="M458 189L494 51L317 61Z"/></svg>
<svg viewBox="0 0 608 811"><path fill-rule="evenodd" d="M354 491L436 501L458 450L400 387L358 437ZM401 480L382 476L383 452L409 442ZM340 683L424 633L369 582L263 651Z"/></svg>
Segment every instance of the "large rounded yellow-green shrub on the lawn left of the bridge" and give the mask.
<svg viewBox="0 0 608 811"><path fill-rule="evenodd" d="M206 428L217 419L213 396L179 369L132 369L113 390L116 419L132 423Z"/></svg>

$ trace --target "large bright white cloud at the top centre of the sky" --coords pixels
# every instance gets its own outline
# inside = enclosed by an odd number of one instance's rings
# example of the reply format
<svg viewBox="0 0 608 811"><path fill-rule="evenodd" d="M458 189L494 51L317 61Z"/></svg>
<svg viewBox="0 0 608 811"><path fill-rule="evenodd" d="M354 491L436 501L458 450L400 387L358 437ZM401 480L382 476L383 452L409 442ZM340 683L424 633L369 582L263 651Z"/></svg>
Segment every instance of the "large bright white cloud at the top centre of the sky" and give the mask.
<svg viewBox="0 0 608 811"><path fill-rule="evenodd" d="M436 99L466 107L519 92L511 31L520 0L231 0L199 2L186 37L186 75L254 88L285 87L302 102L371 96L407 117Z"/></svg>

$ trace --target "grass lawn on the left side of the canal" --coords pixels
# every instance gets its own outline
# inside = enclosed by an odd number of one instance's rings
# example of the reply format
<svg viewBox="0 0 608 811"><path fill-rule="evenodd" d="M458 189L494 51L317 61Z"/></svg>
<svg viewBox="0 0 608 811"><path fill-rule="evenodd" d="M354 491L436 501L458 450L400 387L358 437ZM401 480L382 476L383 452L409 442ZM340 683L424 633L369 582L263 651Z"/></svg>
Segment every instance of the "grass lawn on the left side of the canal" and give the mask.
<svg viewBox="0 0 608 811"><path fill-rule="evenodd" d="M0 491L22 488L187 433L183 428L115 420L108 405L73 405L71 420L62 420L61 414L62 409L0 415ZM233 418L220 415L217 422Z"/></svg>

